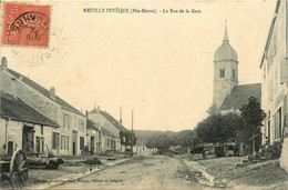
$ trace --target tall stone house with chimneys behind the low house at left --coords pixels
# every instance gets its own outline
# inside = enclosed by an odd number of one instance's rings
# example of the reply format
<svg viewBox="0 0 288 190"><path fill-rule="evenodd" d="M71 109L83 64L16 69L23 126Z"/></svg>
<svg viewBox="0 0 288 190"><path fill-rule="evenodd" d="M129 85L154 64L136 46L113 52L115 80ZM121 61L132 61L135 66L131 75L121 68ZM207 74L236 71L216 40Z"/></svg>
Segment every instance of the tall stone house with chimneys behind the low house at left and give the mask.
<svg viewBox="0 0 288 190"><path fill-rule="evenodd" d="M74 107L55 94L55 89L41 87L29 78L9 69L2 58L0 68L1 90L23 101L42 116L55 122L59 128L43 136L52 146L45 152L76 156L86 146L86 118Z"/></svg>

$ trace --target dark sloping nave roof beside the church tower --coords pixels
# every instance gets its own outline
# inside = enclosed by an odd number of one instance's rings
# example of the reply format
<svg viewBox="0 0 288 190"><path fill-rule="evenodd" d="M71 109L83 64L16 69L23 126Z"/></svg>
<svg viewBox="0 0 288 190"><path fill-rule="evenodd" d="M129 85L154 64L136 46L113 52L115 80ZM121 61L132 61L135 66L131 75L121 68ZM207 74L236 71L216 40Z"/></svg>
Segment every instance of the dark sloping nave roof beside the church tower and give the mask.
<svg viewBox="0 0 288 190"><path fill-rule="evenodd" d="M232 93L222 103L220 110L240 109L243 104L248 103L250 97L257 98L258 101L261 100L260 83L235 86Z"/></svg>

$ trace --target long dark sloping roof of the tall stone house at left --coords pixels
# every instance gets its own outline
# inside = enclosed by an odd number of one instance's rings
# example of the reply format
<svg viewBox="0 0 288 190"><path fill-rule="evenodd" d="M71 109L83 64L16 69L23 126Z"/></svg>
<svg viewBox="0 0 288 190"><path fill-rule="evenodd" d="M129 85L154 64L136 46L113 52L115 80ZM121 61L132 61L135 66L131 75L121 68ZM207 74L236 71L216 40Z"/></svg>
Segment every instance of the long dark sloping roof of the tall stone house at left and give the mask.
<svg viewBox="0 0 288 190"><path fill-rule="evenodd" d="M49 98L50 100L56 102L59 106L61 106L63 109L70 110L76 114L80 116L84 116L81 111L79 111L78 109L75 109L74 107L72 107L71 104L69 104L68 102L65 102L64 100L62 100L61 98L55 96L55 100L52 99L50 97L50 91L47 90L45 88L41 87L40 84L35 83L34 81L28 79L27 77L11 70L11 69L7 69L7 71L12 74L14 78L20 79L23 83L25 83L27 86L31 87L32 89L37 90L38 92L42 93L43 96L45 96L47 98Z"/></svg>

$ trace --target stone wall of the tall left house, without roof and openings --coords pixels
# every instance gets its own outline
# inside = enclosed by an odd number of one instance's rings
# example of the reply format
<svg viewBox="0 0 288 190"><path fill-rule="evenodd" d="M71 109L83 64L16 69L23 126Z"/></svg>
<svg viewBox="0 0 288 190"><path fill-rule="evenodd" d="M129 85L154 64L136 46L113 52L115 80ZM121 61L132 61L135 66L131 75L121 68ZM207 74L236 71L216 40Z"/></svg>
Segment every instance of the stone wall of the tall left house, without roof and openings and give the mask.
<svg viewBox="0 0 288 190"><path fill-rule="evenodd" d="M6 69L1 68L1 90L7 93L10 93L14 97L20 98L28 106L35 109L41 114L56 122L60 128L54 128L54 132L60 133L60 144L59 149L52 149L52 131L49 132L47 139L49 140L49 148L54 154L72 154L72 130L78 131L78 154L81 153L80 150L80 137L84 138L84 146L86 146L86 120L84 116L76 114L70 110L61 108L54 100L39 93L31 87L23 83L20 79L13 78ZM69 127L64 126L63 116L68 114L69 117ZM69 137L69 150L61 149L61 136ZM51 147L50 147L51 146Z"/></svg>

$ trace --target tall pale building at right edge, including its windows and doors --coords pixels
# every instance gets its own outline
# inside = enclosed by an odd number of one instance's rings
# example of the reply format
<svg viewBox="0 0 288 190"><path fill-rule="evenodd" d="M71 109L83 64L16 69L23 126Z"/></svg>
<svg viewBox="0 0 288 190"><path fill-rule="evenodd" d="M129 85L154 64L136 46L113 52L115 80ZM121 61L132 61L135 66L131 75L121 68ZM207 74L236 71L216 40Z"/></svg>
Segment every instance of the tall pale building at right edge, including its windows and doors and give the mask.
<svg viewBox="0 0 288 190"><path fill-rule="evenodd" d="M287 134L288 97L288 3L276 2L263 59L261 109L266 112L263 144L281 141Z"/></svg>

